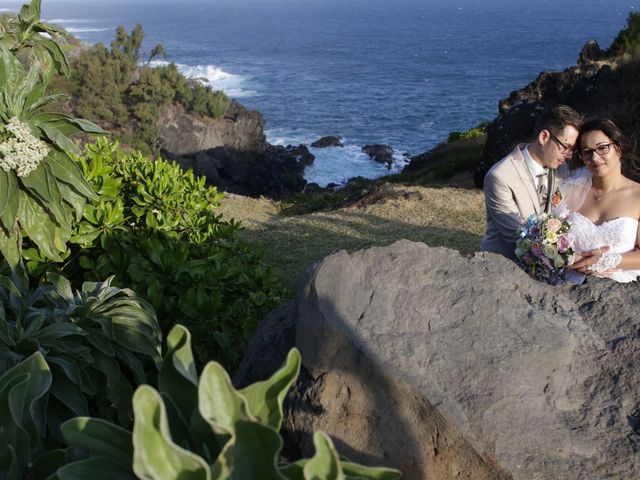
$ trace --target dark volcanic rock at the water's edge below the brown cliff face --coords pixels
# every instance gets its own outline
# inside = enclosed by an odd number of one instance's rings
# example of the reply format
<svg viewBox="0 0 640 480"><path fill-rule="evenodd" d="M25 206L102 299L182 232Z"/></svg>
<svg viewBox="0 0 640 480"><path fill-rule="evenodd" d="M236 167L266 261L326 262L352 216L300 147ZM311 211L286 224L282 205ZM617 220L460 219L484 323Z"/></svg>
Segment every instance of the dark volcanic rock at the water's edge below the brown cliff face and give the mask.
<svg viewBox="0 0 640 480"><path fill-rule="evenodd" d="M173 158L223 191L274 199L302 192L304 168L314 159L304 145L268 145L261 152L217 147Z"/></svg>

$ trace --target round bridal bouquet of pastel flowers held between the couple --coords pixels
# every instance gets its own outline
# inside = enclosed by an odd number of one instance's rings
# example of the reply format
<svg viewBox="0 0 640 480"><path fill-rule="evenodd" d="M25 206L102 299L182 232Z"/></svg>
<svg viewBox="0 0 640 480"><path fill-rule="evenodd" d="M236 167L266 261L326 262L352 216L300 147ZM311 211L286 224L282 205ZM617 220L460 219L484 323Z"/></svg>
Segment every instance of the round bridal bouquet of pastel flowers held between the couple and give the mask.
<svg viewBox="0 0 640 480"><path fill-rule="evenodd" d="M553 213L531 215L519 234L516 258L524 271L551 285L562 283L573 260L571 222Z"/></svg>

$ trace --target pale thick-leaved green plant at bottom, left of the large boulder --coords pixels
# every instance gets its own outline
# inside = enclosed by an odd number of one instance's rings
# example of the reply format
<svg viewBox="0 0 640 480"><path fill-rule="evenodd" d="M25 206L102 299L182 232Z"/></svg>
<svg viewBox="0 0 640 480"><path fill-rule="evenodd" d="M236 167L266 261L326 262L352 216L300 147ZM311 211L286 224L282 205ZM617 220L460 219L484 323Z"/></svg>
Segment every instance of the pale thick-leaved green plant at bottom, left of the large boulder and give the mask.
<svg viewBox="0 0 640 480"><path fill-rule="evenodd" d="M323 433L314 435L311 459L281 462L282 405L299 372L300 354L293 349L271 378L244 389L236 390L215 362L198 381L189 332L177 325L167 337L158 390L143 385L134 395L133 434L100 419L67 421L65 439L86 456L60 468L58 478L400 478L396 470L341 460Z"/></svg>

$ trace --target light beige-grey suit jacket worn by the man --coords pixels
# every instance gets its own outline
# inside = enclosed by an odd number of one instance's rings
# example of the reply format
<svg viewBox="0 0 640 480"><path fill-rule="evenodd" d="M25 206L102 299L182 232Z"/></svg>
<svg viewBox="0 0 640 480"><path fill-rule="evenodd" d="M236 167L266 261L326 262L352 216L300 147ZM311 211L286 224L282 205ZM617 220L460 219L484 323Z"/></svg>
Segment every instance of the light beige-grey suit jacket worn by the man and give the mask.
<svg viewBox="0 0 640 480"><path fill-rule="evenodd" d="M534 214L541 213L536 184L527 168L518 145L509 155L496 163L484 178L484 201L487 209L487 230L480 250L515 258L518 229ZM549 176L549 199L557 190L558 182L566 177L563 165ZM547 209L548 211L548 209Z"/></svg>

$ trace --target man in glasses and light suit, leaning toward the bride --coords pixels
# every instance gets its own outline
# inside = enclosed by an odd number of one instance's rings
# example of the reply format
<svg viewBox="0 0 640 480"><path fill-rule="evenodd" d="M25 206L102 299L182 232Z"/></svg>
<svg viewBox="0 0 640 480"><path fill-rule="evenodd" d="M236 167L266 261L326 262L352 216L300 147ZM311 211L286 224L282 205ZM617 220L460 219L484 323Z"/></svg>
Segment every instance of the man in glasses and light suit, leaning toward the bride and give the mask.
<svg viewBox="0 0 640 480"><path fill-rule="evenodd" d="M530 215L549 211L581 125L582 117L566 105L548 109L536 122L533 141L518 145L487 172L487 229L480 250L515 259L518 229Z"/></svg>

